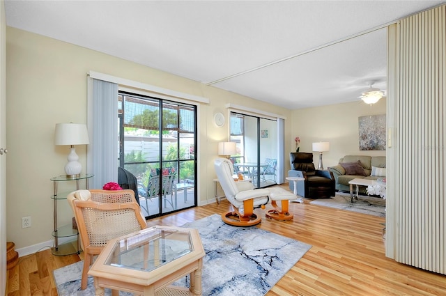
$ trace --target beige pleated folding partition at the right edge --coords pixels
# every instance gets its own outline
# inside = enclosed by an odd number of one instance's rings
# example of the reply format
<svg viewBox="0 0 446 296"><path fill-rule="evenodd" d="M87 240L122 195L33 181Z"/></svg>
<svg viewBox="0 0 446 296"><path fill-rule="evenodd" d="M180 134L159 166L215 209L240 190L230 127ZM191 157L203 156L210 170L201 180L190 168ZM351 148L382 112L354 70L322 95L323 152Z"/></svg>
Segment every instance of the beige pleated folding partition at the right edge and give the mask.
<svg viewBox="0 0 446 296"><path fill-rule="evenodd" d="M390 28L389 110L394 123L387 256L446 272L446 6ZM394 31L393 31L394 30Z"/></svg>

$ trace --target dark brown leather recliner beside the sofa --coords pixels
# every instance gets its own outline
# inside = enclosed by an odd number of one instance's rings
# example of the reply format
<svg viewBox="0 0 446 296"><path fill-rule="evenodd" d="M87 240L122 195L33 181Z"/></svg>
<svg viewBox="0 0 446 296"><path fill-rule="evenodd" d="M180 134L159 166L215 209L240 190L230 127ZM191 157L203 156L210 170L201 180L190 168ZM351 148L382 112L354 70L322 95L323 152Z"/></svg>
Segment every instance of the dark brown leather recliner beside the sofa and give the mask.
<svg viewBox="0 0 446 296"><path fill-rule="evenodd" d="M291 170L289 177L300 177L298 181L298 195L306 198L330 198L336 194L336 182L331 171L316 170L313 163L313 153L290 153ZM289 182L291 191L294 189Z"/></svg>

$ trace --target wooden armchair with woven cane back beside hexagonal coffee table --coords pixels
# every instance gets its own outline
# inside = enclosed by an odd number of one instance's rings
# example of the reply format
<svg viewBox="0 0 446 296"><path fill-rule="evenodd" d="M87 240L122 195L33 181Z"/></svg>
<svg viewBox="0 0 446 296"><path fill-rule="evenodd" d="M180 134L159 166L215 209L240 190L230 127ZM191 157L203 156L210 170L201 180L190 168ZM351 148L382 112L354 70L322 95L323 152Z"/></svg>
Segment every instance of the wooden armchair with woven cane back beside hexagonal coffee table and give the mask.
<svg viewBox="0 0 446 296"><path fill-rule="evenodd" d="M84 290L93 256L100 254L112 238L139 231L147 224L131 189L78 190L68 194L67 199L75 212L84 250L81 281Z"/></svg>

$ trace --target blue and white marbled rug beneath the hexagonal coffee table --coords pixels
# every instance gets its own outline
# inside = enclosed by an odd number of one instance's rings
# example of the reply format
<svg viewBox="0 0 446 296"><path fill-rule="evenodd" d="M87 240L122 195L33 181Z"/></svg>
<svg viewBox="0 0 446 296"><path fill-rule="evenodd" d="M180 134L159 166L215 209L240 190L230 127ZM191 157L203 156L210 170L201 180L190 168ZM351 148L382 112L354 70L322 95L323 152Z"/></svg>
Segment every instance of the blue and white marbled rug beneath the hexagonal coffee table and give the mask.
<svg viewBox="0 0 446 296"><path fill-rule="evenodd" d="M220 215L193 221L183 227L199 229L206 251L203 296L265 295L312 247L260 228L226 225ZM59 296L95 295L91 276L86 290L80 290L82 264L79 261L54 270ZM174 285L189 286L188 276ZM106 295L111 295L109 289L106 289ZM120 295L130 293L120 292Z"/></svg>

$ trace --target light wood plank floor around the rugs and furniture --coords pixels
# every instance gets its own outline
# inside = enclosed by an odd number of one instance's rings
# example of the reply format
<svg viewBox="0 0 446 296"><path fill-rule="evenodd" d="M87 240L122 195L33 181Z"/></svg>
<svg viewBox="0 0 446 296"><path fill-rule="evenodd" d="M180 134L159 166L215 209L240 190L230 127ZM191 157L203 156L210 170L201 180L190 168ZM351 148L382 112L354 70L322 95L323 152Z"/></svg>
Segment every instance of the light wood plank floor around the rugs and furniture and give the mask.
<svg viewBox="0 0 446 296"><path fill-rule="evenodd" d="M309 201L291 203L290 207L292 221L263 218L259 227L313 247L272 287L268 296L446 295L446 276L385 257L381 225L384 218L310 205ZM224 200L220 205L213 203L151 219L148 225L181 226L228 208L229 203ZM263 210L256 212L264 217ZM8 296L57 295L53 270L81 258L52 256L49 250L20 258L20 263L8 273Z"/></svg>

